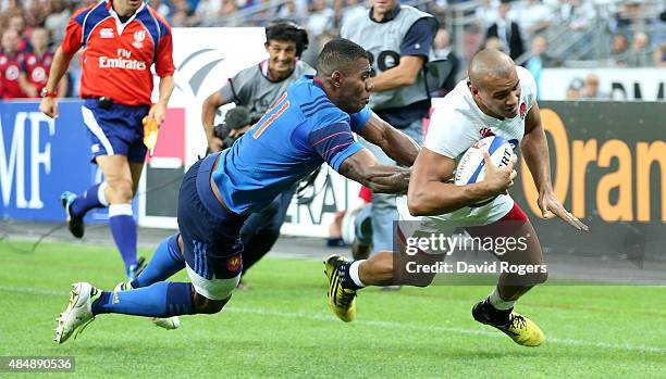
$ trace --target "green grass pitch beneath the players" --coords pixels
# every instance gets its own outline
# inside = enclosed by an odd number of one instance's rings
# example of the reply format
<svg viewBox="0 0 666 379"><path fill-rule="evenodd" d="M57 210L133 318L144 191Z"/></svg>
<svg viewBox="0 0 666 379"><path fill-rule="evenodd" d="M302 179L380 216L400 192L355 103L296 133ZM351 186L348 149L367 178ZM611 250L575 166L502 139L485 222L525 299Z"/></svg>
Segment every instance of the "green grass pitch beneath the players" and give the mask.
<svg viewBox="0 0 666 379"><path fill-rule="evenodd" d="M365 290L357 320L344 324L329 311L320 262L267 258L248 275L250 289L220 314L185 316L173 331L102 315L78 339L55 345L54 318L70 283L112 288L122 279L118 253L42 244L29 254L0 242L0 356L75 356L81 378L666 375L664 288L538 288L517 307L546 333L544 345L529 349L472 320L471 306L490 287Z"/></svg>

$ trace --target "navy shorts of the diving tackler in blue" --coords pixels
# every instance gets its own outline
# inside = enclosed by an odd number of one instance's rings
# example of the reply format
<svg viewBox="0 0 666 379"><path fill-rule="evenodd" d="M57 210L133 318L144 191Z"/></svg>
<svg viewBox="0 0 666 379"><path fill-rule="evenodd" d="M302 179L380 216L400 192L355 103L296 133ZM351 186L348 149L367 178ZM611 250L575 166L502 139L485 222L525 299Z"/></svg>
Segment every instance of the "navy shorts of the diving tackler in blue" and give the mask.
<svg viewBox="0 0 666 379"><path fill-rule="evenodd" d="M205 279L229 279L243 271L240 228L247 216L227 211L210 188L215 159L195 163L183 177L178 194L178 229L185 261Z"/></svg>

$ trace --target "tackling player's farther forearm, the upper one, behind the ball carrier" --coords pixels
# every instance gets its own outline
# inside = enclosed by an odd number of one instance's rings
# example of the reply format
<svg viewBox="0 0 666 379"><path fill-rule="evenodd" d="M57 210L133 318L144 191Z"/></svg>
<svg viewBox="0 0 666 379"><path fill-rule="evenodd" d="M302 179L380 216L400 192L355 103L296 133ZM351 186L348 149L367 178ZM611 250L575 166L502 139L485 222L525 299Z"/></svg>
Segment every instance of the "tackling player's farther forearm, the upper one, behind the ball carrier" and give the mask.
<svg viewBox="0 0 666 379"><path fill-rule="evenodd" d="M382 148L392 160L409 167L414 164L419 150L421 150L414 139L394 128L374 113L372 113L359 135L368 142Z"/></svg>

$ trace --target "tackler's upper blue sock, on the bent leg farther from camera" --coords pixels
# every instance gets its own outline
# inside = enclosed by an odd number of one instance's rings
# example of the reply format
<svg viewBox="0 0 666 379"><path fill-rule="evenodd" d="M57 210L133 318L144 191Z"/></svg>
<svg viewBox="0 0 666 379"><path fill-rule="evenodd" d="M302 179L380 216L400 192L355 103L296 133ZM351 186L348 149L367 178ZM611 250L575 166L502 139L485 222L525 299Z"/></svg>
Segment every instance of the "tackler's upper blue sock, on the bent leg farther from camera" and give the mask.
<svg viewBox="0 0 666 379"><path fill-rule="evenodd" d="M132 280L132 288L146 287L166 280L183 268L185 268L185 260L178 249L178 235L173 235L160 243L146 268L136 279Z"/></svg>

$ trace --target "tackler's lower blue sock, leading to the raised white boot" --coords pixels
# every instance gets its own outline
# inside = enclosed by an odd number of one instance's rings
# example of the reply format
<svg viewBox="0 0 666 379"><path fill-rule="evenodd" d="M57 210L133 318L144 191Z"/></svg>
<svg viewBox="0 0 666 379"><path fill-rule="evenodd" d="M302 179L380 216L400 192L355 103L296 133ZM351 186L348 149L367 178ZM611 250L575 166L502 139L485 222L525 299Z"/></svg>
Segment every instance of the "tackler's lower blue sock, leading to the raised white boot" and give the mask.
<svg viewBox="0 0 666 379"><path fill-rule="evenodd" d="M192 283L160 281L132 291L107 292L92 303L92 314L147 317L192 315Z"/></svg>

